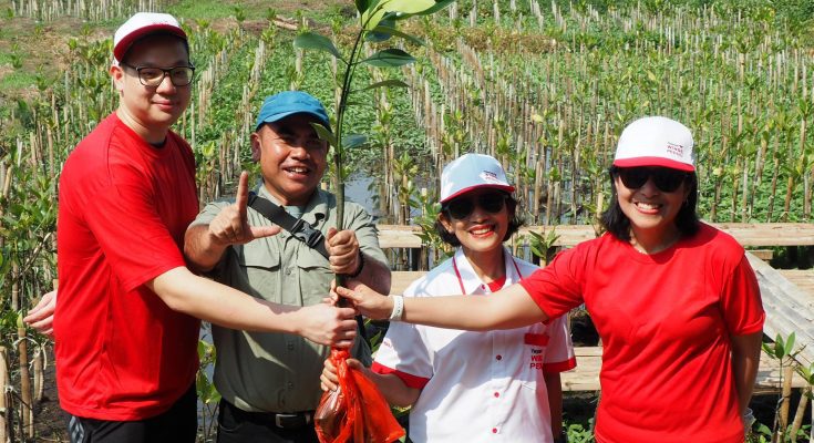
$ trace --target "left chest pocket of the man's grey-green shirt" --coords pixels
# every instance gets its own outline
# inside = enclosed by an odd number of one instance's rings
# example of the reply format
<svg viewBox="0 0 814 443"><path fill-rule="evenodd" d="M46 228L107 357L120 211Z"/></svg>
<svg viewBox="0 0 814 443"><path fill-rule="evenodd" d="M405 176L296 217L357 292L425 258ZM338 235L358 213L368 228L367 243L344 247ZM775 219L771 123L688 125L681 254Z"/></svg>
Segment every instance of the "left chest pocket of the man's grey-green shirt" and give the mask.
<svg viewBox="0 0 814 443"><path fill-rule="evenodd" d="M280 256L276 249L262 238L235 249L237 266L231 268L229 286L256 298L281 302L278 290Z"/></svg>

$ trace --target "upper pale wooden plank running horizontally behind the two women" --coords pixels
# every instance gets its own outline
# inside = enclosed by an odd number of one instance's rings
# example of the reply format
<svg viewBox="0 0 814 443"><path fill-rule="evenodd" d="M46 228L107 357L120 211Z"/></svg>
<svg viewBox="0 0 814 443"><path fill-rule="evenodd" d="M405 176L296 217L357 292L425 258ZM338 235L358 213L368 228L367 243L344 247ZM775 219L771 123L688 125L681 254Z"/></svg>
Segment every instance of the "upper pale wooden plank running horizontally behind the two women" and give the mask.
<svg viewBox="0 0 814 443"><path fill-rule="evenodd" d="M814 245L814 224L807 223L713 223L712 226L731 234L744 247L804 246ZM420 248L421 233L418 226L378 225L379 244L382 248ZM521 228L522 235L529 230L548 233L554 229L559 236L555 246L575 246L596 237L590 225L528 226Z"/></svg>

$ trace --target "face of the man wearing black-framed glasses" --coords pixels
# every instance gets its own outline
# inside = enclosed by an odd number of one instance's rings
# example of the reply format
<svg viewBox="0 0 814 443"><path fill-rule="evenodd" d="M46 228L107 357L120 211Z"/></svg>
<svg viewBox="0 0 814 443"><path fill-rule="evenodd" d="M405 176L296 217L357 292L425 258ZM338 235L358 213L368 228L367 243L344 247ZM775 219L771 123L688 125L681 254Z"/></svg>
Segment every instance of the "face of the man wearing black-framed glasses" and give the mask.
<svg viewBox="0 0 814 443"><path fill-rule="evenodd" d="M161 142L189 105L192 85L175 86L166 76L157 86L145 86L136 70L130 66L188 66L186 45L181 39L167 34L146 37L133 44L124 62L126 65L111 66L111 75L120 93L117 114L147 142Z"/></svg>

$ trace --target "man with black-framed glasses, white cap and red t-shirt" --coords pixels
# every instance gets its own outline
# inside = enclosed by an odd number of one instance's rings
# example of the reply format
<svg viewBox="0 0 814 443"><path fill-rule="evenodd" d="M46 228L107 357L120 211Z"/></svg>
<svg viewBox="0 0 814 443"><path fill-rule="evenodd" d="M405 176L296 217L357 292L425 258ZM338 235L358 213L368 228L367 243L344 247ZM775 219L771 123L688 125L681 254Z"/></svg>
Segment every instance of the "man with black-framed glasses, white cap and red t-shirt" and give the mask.
<svg viewBox="0 0 814 443"><path fill-rule="evenodd" d="M179 248L198 213L195 162L169 127L189 103L188 50L172 16L124 23L110 69L119 109L60 177L53 331L72 442L194 442L198 319L340 347L356 334L352 309L271 303L185 267ZM250 233L247 241L279 230L237 228ZM51 309L40 312L43 329Z"/></svg>

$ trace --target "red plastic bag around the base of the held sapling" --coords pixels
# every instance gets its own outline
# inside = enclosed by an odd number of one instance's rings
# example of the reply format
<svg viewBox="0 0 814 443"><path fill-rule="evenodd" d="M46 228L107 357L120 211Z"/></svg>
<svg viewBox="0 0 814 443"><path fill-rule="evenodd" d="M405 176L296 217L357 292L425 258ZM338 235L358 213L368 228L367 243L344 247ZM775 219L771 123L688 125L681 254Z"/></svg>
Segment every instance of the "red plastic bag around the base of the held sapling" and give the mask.
<svg viewBox="0 0 814 443"><path fill-rule="evenodd" d="M375 384L348 368L348 351L331 350L339 388L322 394L313 421L321 443L391 443L404 430Z"/></svg>

